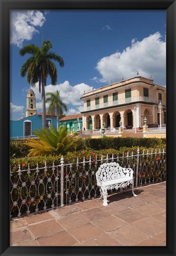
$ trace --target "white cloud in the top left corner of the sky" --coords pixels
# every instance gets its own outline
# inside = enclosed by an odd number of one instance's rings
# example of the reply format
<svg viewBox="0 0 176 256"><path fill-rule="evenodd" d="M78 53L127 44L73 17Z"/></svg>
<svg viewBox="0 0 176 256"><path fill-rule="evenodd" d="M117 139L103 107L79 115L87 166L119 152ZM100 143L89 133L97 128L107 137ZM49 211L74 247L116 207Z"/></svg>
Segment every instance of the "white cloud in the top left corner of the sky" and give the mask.
<svg viewBox="0 0 176 256"><path fill-rule="evenodd" d="M42 27L47 12L41 11L11 11L11 44L22 47L24 40L31 40L38 30L35 27Z"/></svg>

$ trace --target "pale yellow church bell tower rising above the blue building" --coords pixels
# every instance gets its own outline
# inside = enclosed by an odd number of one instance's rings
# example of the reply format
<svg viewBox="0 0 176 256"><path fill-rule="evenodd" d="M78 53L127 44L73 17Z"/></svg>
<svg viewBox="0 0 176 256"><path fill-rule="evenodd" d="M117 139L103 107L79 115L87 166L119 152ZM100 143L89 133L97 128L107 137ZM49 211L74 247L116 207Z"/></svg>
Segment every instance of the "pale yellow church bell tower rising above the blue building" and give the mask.
<svg viewBox="0 0 176 256"><path fill-rule="evenodd" d="M37 109L35 108L35 101L35 93L32 89L29 89L27 93L27 109L25 112L26 117L37 114Z"/></svg>

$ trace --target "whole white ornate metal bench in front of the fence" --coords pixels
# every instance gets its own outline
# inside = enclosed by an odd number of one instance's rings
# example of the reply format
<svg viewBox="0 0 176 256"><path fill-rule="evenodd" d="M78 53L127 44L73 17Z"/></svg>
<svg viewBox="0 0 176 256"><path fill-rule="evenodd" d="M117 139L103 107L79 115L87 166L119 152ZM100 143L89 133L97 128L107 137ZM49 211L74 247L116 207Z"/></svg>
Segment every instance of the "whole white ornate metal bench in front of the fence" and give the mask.
<svg viewBox="0 0 176 256"><path fill-rule="evenodd" d="M96 172L97 186L100 187L101 197L103 197L103 205L107 206L107 190L123 189L132 184L133 196L133 170L132 168L122 168L118 163L101 164Z"/></svg>

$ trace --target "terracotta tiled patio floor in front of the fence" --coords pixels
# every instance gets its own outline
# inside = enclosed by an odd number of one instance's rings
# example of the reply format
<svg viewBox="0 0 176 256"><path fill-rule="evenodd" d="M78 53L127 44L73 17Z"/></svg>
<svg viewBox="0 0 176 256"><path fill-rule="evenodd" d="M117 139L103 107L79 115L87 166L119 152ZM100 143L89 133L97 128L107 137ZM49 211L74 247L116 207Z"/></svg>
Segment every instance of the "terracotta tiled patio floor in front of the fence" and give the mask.
<svg viewBox="0 0 176 256"><path fill-rule="evenodd" d="M166 245L165 182L11 221L11 245Z"/></svg>

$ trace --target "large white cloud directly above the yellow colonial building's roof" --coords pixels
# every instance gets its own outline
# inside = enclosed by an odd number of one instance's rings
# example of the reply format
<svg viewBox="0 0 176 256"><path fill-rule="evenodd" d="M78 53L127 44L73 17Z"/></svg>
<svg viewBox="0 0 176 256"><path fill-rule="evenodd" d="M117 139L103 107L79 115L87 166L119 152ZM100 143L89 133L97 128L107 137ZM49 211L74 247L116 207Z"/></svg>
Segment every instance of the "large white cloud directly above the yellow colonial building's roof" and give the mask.
<svg viewBox="0 0 176 256"><path fill-rule="evenodd" d="M166 42L161 39L159 32L149 35L142 41L132 39L132 45L122 53L116 52L103 57L97 62L96 69L102 76L101 82L118 82L136 76L149 77L152 75L154 82L165 85L166 77Z"/></svg>

